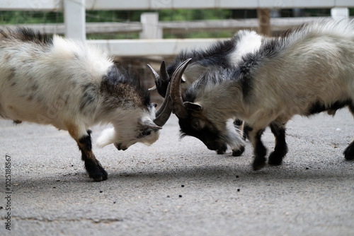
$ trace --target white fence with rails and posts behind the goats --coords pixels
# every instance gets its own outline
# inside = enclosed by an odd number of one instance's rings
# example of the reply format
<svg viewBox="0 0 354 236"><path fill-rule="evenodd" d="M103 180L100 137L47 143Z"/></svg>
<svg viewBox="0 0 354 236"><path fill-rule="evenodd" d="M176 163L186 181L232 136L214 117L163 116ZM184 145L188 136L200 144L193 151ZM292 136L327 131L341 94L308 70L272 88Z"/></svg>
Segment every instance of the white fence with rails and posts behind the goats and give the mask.
<svg viewBox="0 0 354 236"><path fill-rule="evenodd" d="M332 8L332 16L348 17L348 8L354 7L353 0L1 0L0 10L4 11L64 11L64 25L57 27L62 29L67 37L86 40L86 30L94 31L95 28L101 28L101 25L93 23L86 24L86 10L158 10L158 9L173 9L173 8ZM266 12L266 11L265 11ZM149 14L148 14L149 15ZM142 31L142 37L157 39L141 39L141 40L88 40L89 43L101 45L112 54L119 56L152 56L161 55L168 56L178 54L181 49L186 47L202 47L215 39L173 39L163 40L161 30L164 28L227 28L234 29L236 32L239 28L246 28L246 20L218 20L204 21L193 23L159 23L156 16L147 15L147 22L142 22L136 25L125 25L126 28L132 26L135 30ZM151 18L154 18L154 23L149 23ZM272 18L269 14L258 16L257 19L247 21L247 27L257 28L261 25L270 26L272 28L284 28L289 25L299 25L308 18ZM112 23L105 27L115 28L122 23ZM47 28L43 25L30 25L33 28ZM129 26L129 27L128 27ZM47 29L48 30L48 29ZM43 30L42 30L43 31ZM45 30L44 30L45 31ZM60 33L60 32L55 32Z"/></svg>

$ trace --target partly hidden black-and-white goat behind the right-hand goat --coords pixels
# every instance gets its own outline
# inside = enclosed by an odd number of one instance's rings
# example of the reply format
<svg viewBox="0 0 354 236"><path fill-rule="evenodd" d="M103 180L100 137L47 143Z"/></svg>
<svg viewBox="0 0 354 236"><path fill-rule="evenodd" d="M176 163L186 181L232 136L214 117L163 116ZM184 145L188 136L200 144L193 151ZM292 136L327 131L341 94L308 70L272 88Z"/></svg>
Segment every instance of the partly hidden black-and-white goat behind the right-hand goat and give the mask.
<svg viewBox="0 0 354 236"><path fill-rule="evenodd" d="M262 40L263 37L254 31L240 30L231 39L218 41L207 48L184 50L167 67L165 62L162 61L160 73L156 73L148 65L154 74L156 84L154 88L157 88L158 93L164 97L173 72L183 61L191 58L192 61L185 69L181 81L182 96L185 100L185 90L199 78L200 74L205 73L205 71L232 68L245 54L257 50L261 46ZM241 135L244 135L244 124L239 119L234 120L234 126L232 124L228 124L228 126L230 134L234 133L236 128L237 130L240 129ZM203 141L208 148L217 149L219 154L224 153L227 149L226 144L213 140L211 134L200 134L196 137ZM246 137L244 136L244 138ZM243 152L244 146L241 146L239 149L234 149L232 155L239 156Z"/></svg>

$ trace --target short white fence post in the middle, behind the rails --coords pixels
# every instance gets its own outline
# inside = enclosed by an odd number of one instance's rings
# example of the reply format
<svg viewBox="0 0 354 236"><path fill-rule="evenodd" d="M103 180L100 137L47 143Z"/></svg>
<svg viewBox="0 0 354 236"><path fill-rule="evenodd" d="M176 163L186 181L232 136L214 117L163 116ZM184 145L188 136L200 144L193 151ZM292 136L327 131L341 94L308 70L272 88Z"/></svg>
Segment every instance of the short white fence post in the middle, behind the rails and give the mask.
<svg viewBox="0 0 354 236"><path fill-rule="evenodd" d="M162 29L159 27L159 13L142 13L140 16L142 23L141 39L161 39Z"/></svg>

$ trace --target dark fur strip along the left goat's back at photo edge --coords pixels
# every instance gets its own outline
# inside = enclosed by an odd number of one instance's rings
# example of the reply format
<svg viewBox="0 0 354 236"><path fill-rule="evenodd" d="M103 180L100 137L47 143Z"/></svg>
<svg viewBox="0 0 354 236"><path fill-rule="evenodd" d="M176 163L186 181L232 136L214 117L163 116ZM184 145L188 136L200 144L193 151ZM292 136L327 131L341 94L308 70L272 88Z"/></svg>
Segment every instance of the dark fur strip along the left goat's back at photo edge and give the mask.
<svg viewBox="0 0 354 236"><path fill-rule="evenodd" d="M30 28L16 27L14 29L6 28L0 30L0 39L21 40L23 42L34 42L40 45L52 45L52 37L42 34L39 31Z"/></svg>

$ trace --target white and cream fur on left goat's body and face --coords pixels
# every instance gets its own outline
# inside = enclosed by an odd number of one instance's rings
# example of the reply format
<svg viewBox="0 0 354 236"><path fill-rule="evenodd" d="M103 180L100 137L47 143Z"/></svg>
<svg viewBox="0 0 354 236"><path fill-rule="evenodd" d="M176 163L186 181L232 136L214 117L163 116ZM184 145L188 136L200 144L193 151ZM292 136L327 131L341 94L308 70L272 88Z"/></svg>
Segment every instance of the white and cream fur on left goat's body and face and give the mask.
<svg viewBox="0 0 354 236"><path fill-rule="evenodd" d="M0 115L15 121L52 124L68 130L76 141L94 124L113 124L114 134L112 130L103 132L99 146L153 143L159 132L140 140L137 134L144 127L137 120L145 116L154 120L154 108L147 107L147 111L129 104L106 112L98 95L80 109L83 86L91 83L100 88L110 66L113 61L103 50L59 36L53 37L52 45L44 46L0 37Z"/></svg>

